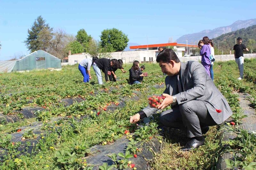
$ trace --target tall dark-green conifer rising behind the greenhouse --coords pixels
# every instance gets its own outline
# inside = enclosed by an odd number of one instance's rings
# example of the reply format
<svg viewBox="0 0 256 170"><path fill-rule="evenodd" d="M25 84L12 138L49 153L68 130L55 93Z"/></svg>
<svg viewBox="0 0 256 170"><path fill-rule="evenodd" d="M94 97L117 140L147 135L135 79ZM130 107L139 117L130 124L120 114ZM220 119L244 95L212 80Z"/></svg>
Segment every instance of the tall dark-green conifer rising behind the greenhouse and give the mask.
<svg viewBox="0 0 256 170"><path fill-rule="evenodd" d="M41 34L39 34L42 31ZM51 33L52 28L50 28L49 24L45 24L45 20L41 17L37 17L34 21L33 26L31 27L31 30L28 29L28 38L24 41L26 43L26 46L31 52L34 52L36 50L39 50L42 48L42 42L48 41L49 34L44 35L44 33ZM40 39L38 39L38 36L40 35ZM46 39L44 39L46 38ZM47 45L44 44L44 45ZM48 48L48 47L44 47Z"/></svg>

